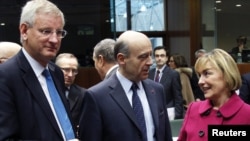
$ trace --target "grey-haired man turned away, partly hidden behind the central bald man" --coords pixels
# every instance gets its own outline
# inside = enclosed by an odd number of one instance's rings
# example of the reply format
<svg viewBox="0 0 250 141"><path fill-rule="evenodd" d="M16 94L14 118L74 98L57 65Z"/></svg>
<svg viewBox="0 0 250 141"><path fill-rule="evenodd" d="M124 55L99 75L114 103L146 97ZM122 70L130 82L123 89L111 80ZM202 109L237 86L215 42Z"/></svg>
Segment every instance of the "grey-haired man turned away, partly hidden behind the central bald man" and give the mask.
<svg viewBox="0 0 250 141"><path fill-rule="evenodd" d="M115 74L118 68L114 57L114 46L115 40L106 38L98 42L94 47L93 60L102 80L108 79Z"/></svg>

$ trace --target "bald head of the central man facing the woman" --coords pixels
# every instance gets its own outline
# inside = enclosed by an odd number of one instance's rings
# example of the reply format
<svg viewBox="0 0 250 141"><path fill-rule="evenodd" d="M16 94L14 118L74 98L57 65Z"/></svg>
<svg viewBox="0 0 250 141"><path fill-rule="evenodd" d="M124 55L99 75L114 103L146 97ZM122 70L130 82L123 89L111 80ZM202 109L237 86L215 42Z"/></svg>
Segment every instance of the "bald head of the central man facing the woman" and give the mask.
<svg viewBox="0 0 250 141"><path fill-rule="evenodd" d="M152 65L152 44L143 33L123 32L115 45L114 55L119 65L118 71L132 82L148 78Z"/></svg>

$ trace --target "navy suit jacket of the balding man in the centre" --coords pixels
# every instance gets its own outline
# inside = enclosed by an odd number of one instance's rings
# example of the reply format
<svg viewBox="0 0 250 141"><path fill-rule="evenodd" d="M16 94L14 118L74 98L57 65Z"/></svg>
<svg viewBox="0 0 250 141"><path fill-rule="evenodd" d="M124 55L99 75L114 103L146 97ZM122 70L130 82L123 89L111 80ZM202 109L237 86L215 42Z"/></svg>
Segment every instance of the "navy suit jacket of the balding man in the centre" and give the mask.
<svg viewBox="0 0 250 141"><path fill-rule="evenodd" d="M171 141L162 86L149 79L142 84L152 112L156 141ZM116 75L87 90L80 119L80 139L142 141L134 111Z"/></svg>

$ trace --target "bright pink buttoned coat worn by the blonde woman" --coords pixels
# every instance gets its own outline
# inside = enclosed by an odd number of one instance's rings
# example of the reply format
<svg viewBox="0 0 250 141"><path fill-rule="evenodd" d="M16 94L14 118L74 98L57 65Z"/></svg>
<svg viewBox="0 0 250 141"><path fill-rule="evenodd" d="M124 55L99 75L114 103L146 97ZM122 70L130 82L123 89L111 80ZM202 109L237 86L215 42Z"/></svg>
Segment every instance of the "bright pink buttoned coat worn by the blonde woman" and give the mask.
<svg viewBox="0 0 250 141"><path fill-rule="evenodd" d="M207 141L210 124L250 124L250 105L234 93L219 110L214 110L210 100L190 104L178 141Z"/></svg>

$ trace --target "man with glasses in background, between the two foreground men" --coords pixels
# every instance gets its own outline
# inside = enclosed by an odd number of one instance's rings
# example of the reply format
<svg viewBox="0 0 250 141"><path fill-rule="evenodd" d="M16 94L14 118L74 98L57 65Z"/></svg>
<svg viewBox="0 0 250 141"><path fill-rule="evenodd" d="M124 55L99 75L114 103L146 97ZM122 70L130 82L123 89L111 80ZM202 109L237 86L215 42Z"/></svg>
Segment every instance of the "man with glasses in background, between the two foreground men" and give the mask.
<svg viewBox="0 0 250 141"><path fill-rule="evenodd" d="M63 71L64 83L67 88L65 95L69 101L74 126L78 130L83 97L86 92L85 88L74 84L76 75L78 74L78 60L74 54L61 53L56 57L55 64Z"/></svg>

